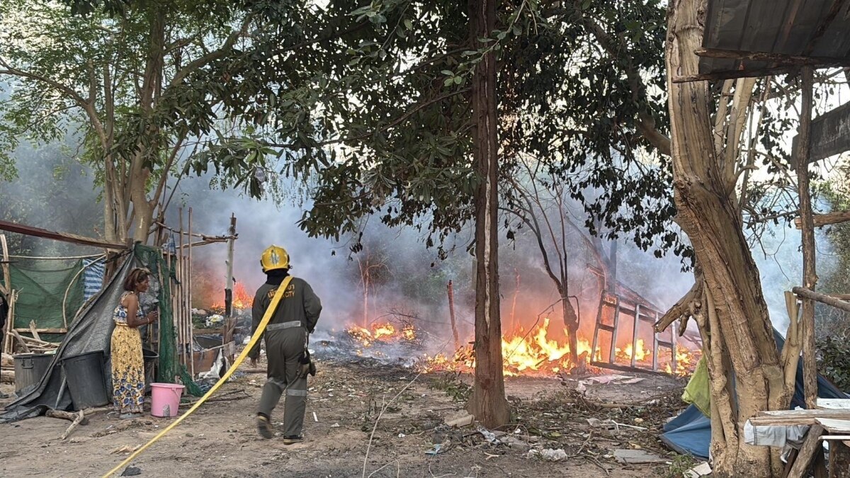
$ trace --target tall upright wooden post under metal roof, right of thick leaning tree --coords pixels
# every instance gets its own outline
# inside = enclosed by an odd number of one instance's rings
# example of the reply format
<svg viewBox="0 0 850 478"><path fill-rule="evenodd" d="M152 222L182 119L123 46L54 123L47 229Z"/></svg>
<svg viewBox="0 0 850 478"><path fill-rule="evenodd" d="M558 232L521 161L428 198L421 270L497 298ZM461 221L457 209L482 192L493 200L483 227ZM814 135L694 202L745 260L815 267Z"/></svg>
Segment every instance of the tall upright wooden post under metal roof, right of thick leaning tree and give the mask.
<svg viewBox="0 0 850 478"><path fill-rule="evenodd" d="M802 69L802 109L800 113L800 148L796 156L797 192L800 196L800 218L802 221L802 284L813 291L818 282L815 273L814 220L812 217L812 196L808 183L808 156L812 148L812 101L813 69ZM814 303L812 299L802 299L802 359L803 389L806 407L814 408L818 398L818 371L814 360Z"/></svg>

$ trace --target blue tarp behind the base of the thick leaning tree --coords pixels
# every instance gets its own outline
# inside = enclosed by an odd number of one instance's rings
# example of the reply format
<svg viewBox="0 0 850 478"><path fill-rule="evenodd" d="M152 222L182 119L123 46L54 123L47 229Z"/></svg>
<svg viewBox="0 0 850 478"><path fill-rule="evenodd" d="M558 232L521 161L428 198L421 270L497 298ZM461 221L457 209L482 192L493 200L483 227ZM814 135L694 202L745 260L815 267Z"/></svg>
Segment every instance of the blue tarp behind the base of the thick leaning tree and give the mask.
<svg viewBox="0 0 850 478"><path fill-rule="evenodd" d="M774 339L779 350L785 344L785 339L774 329ZM847 398L847 394L838 390L829 380L818 375L818 396L820 398ZM802 390L802 358L797 362L796 388L791 397L791 409L805 408ZM708 459L708 446L711 443L711 419L691 405L678 417L664 425L661 441L667 447L678 453L693 455L696 458Z"/></svg>

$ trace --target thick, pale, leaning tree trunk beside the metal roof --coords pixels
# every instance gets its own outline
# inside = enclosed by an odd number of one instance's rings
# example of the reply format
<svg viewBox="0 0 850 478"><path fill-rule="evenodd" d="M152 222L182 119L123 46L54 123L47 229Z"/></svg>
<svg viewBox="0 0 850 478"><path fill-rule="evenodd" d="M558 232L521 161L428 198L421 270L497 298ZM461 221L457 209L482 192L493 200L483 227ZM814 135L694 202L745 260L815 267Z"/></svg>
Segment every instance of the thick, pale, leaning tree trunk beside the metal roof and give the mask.
<svg viewBox="0 0 850 478"><path fill-rule="evenodd" d="M743 424L755 413L787 406L782 368L762 296L759 274L745 241L734 196L734 178L715 149L711 93L705 82L672 83L698 72L705 0L675 0L666 45L674 198L678 224L702 268L710 336L711 452L717 476L781 473L768 447L744 443ZM727 142L738 138L727 138ZM728 357L728 358L727 358ZM737 402L728 378L734 369ZM774 459L772 459L774 458Z"/></svg>

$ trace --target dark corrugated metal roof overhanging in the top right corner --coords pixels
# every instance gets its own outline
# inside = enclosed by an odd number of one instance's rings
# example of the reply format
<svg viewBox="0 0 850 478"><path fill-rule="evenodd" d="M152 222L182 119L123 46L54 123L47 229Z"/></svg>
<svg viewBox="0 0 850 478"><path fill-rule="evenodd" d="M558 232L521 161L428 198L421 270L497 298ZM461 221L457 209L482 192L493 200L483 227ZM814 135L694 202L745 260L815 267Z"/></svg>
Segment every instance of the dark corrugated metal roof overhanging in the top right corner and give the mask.
<svg viewBox="0 0 850 478"><path fill-rule="evenodd" d="M703 48L847 59L850 1L708 0ZM758 60L700 59L700 75L787 66Z"/></svg>

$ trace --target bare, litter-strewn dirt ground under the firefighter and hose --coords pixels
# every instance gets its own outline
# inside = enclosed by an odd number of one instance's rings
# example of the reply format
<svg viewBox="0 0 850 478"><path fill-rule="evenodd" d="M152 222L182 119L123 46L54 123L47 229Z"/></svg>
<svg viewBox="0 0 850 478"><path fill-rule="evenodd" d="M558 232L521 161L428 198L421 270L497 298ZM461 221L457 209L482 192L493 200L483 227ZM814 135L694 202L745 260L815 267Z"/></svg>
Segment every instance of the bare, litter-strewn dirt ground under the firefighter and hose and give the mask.
<svg viewBox="0 0 850 478"><path fill-rule="evenodd" d="M323 361L309 383L307 441L285 446L280 436L263 440L254 428L263 373L237 372L211 401L134 459L132 466L143 477L669 475L669 462L626 465L611 454L617 448L643 448L672 460L657 436L666 419L683 408L678 400L683 380L627 375L643 380L588 384L583 393L575 391L577 383L572 380L507 378L513 424L496 430L496 439L502 442L492 444L473 427L450 429L443 424L463 414L459 400L468 393L468 377L422 374L405 389L416 377L411 369L368 360ZM13 388L3 384L0 390L9 393ZM616 408L610 403L637 405ZM282 407L278 411L282 413ZM280 413L273 421L280 422ZM648 430L624 426L604 430L588 424L587 418L610 418ZM154 417L121 421L98 413L65 441L59 435L70 422L59 418L0 424L4 437L0 475L101 476L126 458L128 450L143 445L171 422ZM503 441L510 441L510 446ZM427 454L434 443L441 445L440 452ZM530 449L563 449L568 458L557 462L529 458Z"/></svg>

